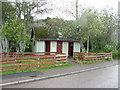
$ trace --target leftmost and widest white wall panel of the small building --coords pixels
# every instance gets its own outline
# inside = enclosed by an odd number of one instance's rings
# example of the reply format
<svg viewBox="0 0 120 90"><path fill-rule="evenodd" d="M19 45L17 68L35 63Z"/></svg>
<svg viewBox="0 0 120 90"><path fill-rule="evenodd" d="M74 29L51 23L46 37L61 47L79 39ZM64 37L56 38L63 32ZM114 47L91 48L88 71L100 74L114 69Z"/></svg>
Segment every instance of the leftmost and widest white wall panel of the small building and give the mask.
<svg viewBox="0 0 120 90"><path fill-rule="evenodd" d="M45 52L45 41L35 42L35 52Z"/></svg>

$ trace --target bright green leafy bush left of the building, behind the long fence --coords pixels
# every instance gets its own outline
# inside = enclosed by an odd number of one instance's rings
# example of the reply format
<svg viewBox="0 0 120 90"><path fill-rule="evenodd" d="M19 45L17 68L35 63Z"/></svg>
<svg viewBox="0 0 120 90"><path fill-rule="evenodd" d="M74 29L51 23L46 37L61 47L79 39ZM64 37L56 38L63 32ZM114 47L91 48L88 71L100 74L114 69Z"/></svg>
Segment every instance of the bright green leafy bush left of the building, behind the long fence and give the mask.
<svg viewBox="0 0 120 90"><path fill-rule="evenodd" d="M2 28L2 33L9 42L10 51L16 51L16 48L20 48L20 43L26 43L25 41L29 40L25 26L19 19L6 22Z"/></svg>

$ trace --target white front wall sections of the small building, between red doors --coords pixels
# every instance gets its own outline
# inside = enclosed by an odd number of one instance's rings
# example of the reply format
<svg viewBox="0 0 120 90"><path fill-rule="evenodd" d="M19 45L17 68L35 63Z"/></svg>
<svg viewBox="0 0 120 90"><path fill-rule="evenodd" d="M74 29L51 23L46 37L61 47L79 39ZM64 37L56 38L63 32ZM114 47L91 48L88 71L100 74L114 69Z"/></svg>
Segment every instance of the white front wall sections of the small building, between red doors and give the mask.
<svg viewBox="0 0 120 90"><path fill-rule="evenodd" d="M34 52L45 52L45 41L36 41L33 49ZM50 42L50 52L57 52L56 41ZM73 52L80 52L80 43L73 43ZM62 42L62 53L66 53L68 55L68 42Z"/></svg>

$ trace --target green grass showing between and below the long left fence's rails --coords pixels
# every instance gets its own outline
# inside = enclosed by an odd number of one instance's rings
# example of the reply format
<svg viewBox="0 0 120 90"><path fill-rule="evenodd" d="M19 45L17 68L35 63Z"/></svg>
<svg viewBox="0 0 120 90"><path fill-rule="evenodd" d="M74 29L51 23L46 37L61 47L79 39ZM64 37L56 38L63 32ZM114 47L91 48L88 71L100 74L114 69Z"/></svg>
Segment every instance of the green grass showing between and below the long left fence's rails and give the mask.
<svg viewBox="0 0 120 90"><path fill-rule="evenodd" d="M47 59L47 58L44 58L44 59ZM35 60L35 59L22 59L22 60L17 60L17 61L26 61L26 60ZM39 61L39 63L45 63L45 62L53 62L53 61ZM2 67L12 66L12 65L35 64L35 63L38 63L38 62L28 62L28 63L20 63L20 64L19 63L18 64L8 64L8 65L2 65ZM55 64L63 64L63 63L55 63ZM47 65L54 65L54 64L45 64L45 65L37 65L37 66L47 66ZM44 71L44 70L55 69L55 68L69 67L69 66L72 66L72 65L73 65L72 63L66 63L65 65L46 67L46 68L39 68L39 69L26 69L26 70L21 70L21 71L15 71L14 70L14 71L8 71L8 72L0 73L0 75L21 73L21 72L31 72L31 71ZM35 67L35 66L28 66L28 67ZM17 67L17 68L24 68L24 67Z"/></svg>

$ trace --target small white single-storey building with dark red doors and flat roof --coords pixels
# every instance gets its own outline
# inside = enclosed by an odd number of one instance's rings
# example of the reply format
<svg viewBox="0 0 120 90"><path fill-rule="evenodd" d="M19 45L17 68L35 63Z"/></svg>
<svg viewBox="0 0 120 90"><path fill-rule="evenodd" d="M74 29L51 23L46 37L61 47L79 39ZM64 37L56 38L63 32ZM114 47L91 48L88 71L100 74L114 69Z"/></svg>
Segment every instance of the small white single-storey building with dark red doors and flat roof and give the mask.
<svg viewBox="0 0 120 90"><path fill-rule="evenodd" d="M56 52L73 56L73 52L80 52L80 41L63 39L35 39L33 52Z"/></svg>

